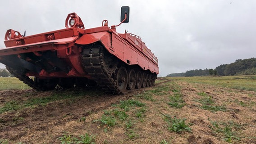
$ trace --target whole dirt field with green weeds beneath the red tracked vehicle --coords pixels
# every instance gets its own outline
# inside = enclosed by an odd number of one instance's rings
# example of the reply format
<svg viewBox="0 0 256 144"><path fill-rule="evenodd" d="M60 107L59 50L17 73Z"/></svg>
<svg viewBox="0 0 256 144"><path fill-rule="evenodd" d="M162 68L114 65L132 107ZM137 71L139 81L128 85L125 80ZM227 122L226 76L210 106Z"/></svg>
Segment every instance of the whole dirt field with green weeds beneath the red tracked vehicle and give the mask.
<svg viewBox="0 0 256 144"><path fill-rule="evenodd" d="M2 90L0 108L0 144L256 144L256 92L165 78L114 96Z"/></svg>

